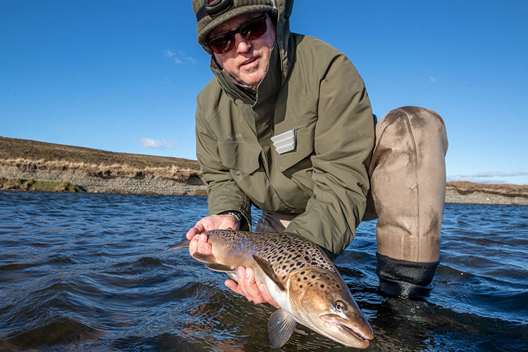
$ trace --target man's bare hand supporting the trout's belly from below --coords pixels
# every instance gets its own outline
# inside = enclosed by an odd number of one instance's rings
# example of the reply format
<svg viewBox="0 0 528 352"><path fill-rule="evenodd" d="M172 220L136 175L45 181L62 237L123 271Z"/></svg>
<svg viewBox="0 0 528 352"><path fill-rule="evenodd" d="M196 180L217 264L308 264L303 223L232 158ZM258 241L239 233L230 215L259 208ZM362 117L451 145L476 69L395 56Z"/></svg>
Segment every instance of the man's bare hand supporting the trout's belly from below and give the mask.
<svg viewBox="0 0 528 352"><path fill-rule="evenodd" d="M229 287L237 294L245 296L248 301L255 304L270 303L275 308L280 308L277 302L269 294L268 290L262 282L255 281L255 273L253 268L244 268L239 266L237 269L238 284L232 280L225 280L225 286Z"/></svg>

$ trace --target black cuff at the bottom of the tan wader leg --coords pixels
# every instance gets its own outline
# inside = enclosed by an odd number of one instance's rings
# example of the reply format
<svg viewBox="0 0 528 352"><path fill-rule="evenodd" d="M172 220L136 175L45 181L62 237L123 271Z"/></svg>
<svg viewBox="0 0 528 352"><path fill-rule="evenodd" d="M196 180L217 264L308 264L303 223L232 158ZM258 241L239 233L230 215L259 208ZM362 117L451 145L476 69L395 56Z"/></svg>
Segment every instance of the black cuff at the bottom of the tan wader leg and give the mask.
<svg viewBox="0 0 528 352"><path fill-rule="evenodd" d="M376 253L376 257L379 287L386 294L411 299L429 296L429 291L433 289L431 282L439 261L413 263L393 259L379 253Z"/></svg>

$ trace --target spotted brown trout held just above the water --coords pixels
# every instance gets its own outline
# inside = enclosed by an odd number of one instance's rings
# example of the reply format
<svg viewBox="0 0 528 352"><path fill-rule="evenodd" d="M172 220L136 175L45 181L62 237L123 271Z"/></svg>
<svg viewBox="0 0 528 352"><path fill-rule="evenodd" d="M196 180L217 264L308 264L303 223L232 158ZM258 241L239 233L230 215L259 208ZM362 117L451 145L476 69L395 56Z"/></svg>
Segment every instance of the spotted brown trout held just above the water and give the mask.
<svg viewBox="0 0 528 352"><path fill-rule="evenodd" d="M313 241L288 232L205 232L212 253L194 253L207 268L237 281L251 267L280 309L268 321L271 346L287 343L297 324L344 346L367 348L374 332L332 260ZM169 250L189 247L185 239Z"/></svg>

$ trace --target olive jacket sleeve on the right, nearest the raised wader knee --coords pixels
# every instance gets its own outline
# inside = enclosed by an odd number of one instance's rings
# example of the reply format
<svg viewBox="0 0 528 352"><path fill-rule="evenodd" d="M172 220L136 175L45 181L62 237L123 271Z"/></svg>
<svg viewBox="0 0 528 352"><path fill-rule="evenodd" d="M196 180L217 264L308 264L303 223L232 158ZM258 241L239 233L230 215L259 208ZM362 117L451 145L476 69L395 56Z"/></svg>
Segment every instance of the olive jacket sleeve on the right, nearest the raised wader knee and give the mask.
<svg viewBox="0 0 528 352"><path fill-rule="evenodd" d="M344 79L346 77L346 79ZM344 55L329 65L319 87L313 196L287 227L334 258L351 243L365 212L374 118L365 84Z"/></svg>

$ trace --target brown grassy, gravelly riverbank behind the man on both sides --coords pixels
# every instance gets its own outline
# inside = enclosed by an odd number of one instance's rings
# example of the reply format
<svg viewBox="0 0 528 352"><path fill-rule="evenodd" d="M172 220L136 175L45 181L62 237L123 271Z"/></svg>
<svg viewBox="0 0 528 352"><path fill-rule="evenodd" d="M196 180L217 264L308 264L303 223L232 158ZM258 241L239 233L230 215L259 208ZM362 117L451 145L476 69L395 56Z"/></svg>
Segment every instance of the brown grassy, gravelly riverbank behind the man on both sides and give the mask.
<svg viewBox="0 0 528 352"><path fill-rule="evenodd" d="M6 137L0 137L0 177L11 180L0 182L4 190L31 191L27 184L39 181L56 182L51 191L73 189L63 186L69 182L89 193L206 195L197 161ZM528 205L528 186L448 182L446 203Z"/></svg>

